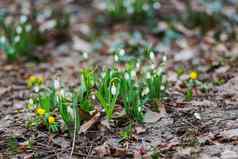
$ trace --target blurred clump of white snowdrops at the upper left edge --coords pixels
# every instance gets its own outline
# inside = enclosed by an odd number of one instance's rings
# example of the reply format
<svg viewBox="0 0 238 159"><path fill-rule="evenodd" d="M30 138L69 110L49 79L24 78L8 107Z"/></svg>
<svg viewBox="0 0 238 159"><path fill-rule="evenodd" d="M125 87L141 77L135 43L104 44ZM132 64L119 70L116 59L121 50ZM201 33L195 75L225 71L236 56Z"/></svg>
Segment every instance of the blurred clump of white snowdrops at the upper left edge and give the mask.
<svg viewBox="0 0 238 159"><path fill-rule="evenodd" d="M32 50L46 42L44 35L32 23L29 17L22 15L20 22L7 23L6 17L0 17L0 48L11 61L19 57L33 58Z"/></svg>

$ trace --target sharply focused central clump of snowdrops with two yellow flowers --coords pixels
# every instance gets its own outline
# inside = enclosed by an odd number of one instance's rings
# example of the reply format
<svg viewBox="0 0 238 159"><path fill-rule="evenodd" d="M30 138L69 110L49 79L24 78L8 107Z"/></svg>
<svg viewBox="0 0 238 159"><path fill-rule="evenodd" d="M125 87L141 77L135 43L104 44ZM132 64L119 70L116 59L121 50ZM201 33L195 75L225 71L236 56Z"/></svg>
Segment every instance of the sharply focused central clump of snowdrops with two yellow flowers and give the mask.
<svg viewBox="0 0 238 159"><path fill-rule="evenodd" d="M57 80L50 88L40 87L32 106L28 107L36 112L30 126L45 126L51 132L58 132L62 127L69 132L73 127L78 131L81 121L85 120L82 112L90 116L97 109L94 106L96 102L103 108L108 120L112 119L118 104L128 117L143 122L144 105L164 100L167 84L161 70L152 71L150 77L136 77L134 67L128 64L125 70L106 69L101 76L92 69L83 69L81 83L74 90L65 89ZM144 88L148 88L147 93L143 92Z"/></svg>

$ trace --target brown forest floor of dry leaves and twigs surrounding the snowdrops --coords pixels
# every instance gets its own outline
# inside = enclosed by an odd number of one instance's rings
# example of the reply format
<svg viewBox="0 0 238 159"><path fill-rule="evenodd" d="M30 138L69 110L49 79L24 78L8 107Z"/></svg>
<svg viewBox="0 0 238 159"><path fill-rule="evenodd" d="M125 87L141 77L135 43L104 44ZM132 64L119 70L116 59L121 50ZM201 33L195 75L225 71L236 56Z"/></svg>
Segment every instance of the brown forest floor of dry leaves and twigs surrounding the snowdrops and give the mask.
<svg viewBox="0 0 238 159"><path fill-rule="evenodd" d="M180 1L178 3L183 4ZM48 60L37 64L29 61L8 63L1 56L0 159L30 159L34 156L68 158L72 139L65 134L28 129L26 121L29 112L25 108L19 110L19 105L25 105L32 92L26 85L30 75L43 75L47 84L57 78L65 85L74 87L79 84L80 68L113 64L113 57L103 49L89 53L87 59L78 50L89 51L94 47L88 40L88 35L94 29L107 30L107 40L102 39L108 43L118 38L119 32L130 32L137 28L132 29L127 23L115 24L110 28L90 28L89 23L96 14L93 7L76 2L65 6L69 10L79 11L72 15L72 40L44 46L45 52L50 53ZM169 9L171 12L180 12L176 7L170 6ZM216 41L212 37L213 30L199 36L196 31L179 25L177 29L180 29L182 36L171 42L164 51L170 87L168 100L161 104L161 111L147 110L149 117L145 117L146 121L135 124L135 139L123 144L116 135L120 128L116 127L103 129L95 126L87 133L78 135L73 158L150 158L159 153L160 158L165 159L238 159L238 41ZM237 33L237 25L234 27ZM153 46L160 44L156 35L147 31L145 34L144 39ZM161 56L158 55L158 58ZM178 78L176 71L181 66L185 74ZM198 90L191 101L185 101L181 83L191 70L199 71L200 80L209 88L205 92ZM213 84L218 79L223 82ZM103 125L104 120L102 118L98 125ZM16 139L20 147L15 153L9 150L12 138ZM26 148L25 142L29 139L32 145Z"/></svg>

